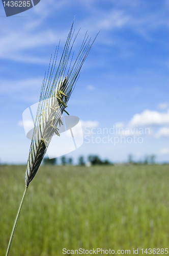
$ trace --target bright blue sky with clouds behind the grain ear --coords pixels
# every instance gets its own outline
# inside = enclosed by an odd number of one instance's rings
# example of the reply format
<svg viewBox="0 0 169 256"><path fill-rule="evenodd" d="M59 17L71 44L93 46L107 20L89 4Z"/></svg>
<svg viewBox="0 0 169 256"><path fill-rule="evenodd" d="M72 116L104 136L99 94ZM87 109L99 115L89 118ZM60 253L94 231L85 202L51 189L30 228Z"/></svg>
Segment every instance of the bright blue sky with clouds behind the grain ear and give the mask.
<svg viewBox="0 0 169 256"><path fill-rule="evenodd" d="M84 143L66 156L74 162L89 154L124 162L129 154L135 160L154 154L157 162L168 161L168 6L158 0L41 0L6 17L1 4L1 163L26 163L30 140L22 112L38 102L50 55L60 39L62 51L74 17L75 31L81 28L75 53L87 30L92 38L100 33L68 103L68 112L81 120ZM128 129L124 136L132 142L114 143L121 132L111 135L112 127L123 133ZM108 134L103 135L103 128ZM138 135L136 128L144 134ZM143 142L135 143L133 135Z"/></svg>

